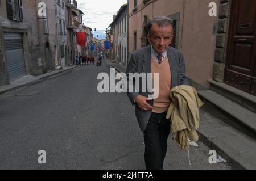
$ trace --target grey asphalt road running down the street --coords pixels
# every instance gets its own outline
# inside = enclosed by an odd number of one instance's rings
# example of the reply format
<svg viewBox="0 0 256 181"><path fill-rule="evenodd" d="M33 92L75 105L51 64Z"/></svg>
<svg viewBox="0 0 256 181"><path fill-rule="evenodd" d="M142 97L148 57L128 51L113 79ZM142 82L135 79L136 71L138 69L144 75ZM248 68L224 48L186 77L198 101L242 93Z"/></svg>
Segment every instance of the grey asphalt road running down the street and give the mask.
<svg viewBox="0 0 256 181"><path fill-rule="evenodd" d="M134 107L126 94L97 91L101 72L110 74L105 61L0 95L0 169L145 169ZM170 135L164 169L231 169L210 164L210 148L198 144L191 167Z"/></svg>

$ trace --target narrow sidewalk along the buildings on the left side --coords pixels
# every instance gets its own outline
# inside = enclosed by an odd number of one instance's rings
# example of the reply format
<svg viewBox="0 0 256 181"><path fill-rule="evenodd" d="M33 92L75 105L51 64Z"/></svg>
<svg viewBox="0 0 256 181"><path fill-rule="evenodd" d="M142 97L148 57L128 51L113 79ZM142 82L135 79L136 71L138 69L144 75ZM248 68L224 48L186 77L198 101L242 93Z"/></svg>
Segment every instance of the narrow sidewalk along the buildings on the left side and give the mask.
<svg viewBox="0 0 256 181"><path fill-rule="evenodd" d="M8 91L18 89L19 87L30 85L31 83L41 82L44 79L46 79L48 77L51 77L52 75L56 75L56 74L63 73L63 72L68 71L68 70L79 68L80 66L81 65L79 65L79 66L73 65L73 66L70 66L70 67L65 67L61 70L53 70L49 73L38 75L38 76L25 75L25 76L17 79L14 82L11 82L10 85L0 86L0 95L6 93Z"/></svg>

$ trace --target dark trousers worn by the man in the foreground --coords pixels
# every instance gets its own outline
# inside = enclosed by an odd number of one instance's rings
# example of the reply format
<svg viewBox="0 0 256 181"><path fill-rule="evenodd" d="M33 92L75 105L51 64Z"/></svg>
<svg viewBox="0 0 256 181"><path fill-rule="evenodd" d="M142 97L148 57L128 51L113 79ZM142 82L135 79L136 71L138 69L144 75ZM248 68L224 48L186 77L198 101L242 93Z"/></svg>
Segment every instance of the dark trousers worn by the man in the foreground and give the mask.
<svg viewBox="0 0 256 181"><path fill-rule="evenodd" d="M163 170L167 140L170 134L170 121L166 119L166 113L152 112L144 131L144 158L147 170Z"/></svg>

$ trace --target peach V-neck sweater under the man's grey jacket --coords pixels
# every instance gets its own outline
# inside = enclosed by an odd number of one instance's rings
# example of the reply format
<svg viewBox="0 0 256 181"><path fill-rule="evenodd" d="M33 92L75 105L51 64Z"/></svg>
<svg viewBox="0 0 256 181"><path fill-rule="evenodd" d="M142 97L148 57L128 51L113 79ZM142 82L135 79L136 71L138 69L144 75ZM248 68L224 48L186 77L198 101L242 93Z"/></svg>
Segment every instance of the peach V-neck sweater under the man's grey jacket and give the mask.
<svg viewBox="0 0 256 181"><path fill-rule="evenodd" d="M154 106L152 112L163 113L168 110L171 104L171 70L168 61L168 56L164 58L162 64L158 64L151 57L151 71L152 71L152 86L154 86L154 73L159 73L159 96L154 99ZM156 89L155 89L156 91Z"/></svg>

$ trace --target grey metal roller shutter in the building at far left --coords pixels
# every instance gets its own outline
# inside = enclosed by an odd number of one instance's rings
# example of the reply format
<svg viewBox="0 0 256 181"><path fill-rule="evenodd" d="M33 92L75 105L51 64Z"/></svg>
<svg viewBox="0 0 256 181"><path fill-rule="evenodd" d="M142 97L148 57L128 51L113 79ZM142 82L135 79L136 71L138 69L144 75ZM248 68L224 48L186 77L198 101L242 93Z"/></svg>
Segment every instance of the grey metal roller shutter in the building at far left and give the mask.
<svg viewBox="0 0 256 181"><path fill-rule="evenodd" d="M25 73L22 34L5 33L7 71L10 82L23 77Z"/></svg>

